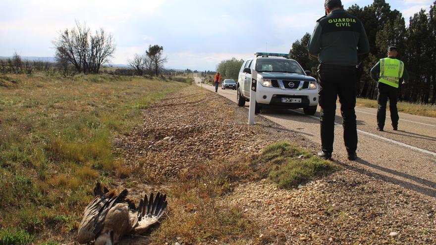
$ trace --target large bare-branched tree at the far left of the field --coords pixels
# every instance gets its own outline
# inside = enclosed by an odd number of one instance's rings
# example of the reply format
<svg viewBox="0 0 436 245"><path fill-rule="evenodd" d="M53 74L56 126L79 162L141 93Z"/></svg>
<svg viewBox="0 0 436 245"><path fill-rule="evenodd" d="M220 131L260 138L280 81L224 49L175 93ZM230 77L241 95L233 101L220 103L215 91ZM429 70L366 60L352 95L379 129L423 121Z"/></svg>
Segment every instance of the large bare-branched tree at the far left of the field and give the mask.
<svg viewBox="0 0 436 245"><path fill-rule="evenodd" d="M79 22L75 28L60 32L53 43L56 59L67 60L76 71L83 73L99 73L115 52L111 34L101 28L92 35L90 29Z"/></svg>

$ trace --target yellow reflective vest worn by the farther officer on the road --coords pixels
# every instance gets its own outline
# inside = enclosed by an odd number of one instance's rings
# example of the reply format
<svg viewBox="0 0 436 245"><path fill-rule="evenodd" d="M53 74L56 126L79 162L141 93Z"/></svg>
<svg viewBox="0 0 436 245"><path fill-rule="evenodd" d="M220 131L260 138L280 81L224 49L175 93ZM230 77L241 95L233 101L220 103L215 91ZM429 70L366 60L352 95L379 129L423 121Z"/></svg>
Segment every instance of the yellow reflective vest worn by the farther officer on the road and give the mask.
<svg viewBox="0 0 436 245"><path fill-rule="evenodd" d="M380 80L394 88L398 88L400 78L403 77L404 63L398 59L382 58L380 59Z"/></svg>

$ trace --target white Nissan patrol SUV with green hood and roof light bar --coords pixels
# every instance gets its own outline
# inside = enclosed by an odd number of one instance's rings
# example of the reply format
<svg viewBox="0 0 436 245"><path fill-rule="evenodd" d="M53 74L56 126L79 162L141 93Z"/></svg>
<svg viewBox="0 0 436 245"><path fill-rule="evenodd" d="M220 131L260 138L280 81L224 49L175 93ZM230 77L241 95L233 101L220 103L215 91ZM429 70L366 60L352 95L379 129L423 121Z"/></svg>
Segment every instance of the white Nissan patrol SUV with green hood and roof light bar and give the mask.
<svg viewBox="0 0 436 245"><path fill-rule="evenodd" d="M242 63L239 71L237 101L244 106L250 100L252 69L257 71L256 113L262 108L303 108L314 115L318 106L317 80L285 53L255 53L256 57Z"/></svg>

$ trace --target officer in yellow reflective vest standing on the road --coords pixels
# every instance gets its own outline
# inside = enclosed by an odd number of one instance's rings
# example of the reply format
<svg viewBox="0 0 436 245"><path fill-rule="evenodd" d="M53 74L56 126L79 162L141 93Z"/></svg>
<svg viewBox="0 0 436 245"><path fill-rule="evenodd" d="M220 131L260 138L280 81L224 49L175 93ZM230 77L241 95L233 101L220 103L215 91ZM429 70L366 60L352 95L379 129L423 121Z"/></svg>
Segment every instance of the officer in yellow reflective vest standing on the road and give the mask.
<svg viewBox="0 0 436 245"><path fill-rule="evenodd" d="M396 47L387 49L387 58L382 58L372 69L371 76L379 81L379 94L377 102L377 130L383 131L384 120L386 119L386 102L389 99L390 119L392 120L393 130L398 130L398 87L400 84L408 82L409 75L404 63L397 59L398 50ZM402 83L400 83L402 82Z"/></svg>

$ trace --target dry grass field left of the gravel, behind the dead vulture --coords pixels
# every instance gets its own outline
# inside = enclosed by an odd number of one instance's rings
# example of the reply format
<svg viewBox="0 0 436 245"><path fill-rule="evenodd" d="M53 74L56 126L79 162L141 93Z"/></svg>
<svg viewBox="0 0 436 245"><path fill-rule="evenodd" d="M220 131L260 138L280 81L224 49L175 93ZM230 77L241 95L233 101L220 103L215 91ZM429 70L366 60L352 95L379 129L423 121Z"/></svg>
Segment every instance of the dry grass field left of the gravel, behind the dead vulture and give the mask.
<svg viewBox="0 0 436 245"><path fill-rule="evenodd" d="M109 75L7 75L0 85L0 228L24 229L38 241L47 230L75 229L97 179L113 184L130 174L111 137L186 86Z"/></svg>

